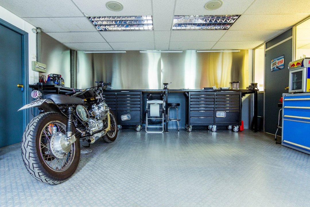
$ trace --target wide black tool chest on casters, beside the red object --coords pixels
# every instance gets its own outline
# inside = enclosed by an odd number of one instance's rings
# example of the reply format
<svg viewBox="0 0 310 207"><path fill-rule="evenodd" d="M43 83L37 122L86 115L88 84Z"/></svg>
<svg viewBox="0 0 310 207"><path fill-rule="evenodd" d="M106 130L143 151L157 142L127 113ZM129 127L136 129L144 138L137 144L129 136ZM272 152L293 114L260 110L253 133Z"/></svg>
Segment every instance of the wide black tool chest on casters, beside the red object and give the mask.
<svg viewBox="0 0 310 207"><path fill-rule="evenodd" d="M241 125L241 92L188 92L186 93L186 128L193 125L216 126Z"/></svg>

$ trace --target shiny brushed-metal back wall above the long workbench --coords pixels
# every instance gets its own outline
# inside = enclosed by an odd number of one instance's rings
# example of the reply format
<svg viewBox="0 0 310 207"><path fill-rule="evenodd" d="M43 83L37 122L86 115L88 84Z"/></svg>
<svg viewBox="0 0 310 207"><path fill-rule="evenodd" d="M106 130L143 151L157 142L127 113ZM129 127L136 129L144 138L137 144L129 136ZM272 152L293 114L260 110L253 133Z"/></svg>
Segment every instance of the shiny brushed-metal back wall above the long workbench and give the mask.
<svg viewBox="0 0 310 207"><path fill-rule="evenodd" d="M249 85L248 50L197 53L77 53L77 87L92 87L95 81L111 82L114 89L170 89L229 87L240 81Z"/></svg>

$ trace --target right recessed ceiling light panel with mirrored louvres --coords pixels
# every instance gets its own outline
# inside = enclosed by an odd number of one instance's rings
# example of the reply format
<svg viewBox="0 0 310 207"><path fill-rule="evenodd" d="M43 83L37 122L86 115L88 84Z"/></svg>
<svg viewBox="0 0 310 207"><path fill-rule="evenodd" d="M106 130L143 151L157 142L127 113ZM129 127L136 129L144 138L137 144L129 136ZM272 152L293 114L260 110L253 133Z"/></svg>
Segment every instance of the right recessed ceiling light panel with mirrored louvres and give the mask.
<svg viewBox="0 0 310 207"><path fill-rule="evenodd" d="M172 30L227 30L241 15L174 16Z"/></svg>

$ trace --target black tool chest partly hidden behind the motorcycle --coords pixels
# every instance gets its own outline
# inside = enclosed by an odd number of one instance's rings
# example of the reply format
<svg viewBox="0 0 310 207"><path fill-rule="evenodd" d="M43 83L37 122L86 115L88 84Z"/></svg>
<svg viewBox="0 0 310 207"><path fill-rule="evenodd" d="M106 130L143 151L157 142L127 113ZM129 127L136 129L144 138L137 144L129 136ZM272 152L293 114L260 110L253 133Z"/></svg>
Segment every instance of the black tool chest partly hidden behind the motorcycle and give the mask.
<svg viewBox="0 0 310 207"><path fill-rule="evenodd" d="M142 127L142 92L107 92L102 93L105 102L117 117L118 125L137 125Z"/></svg>

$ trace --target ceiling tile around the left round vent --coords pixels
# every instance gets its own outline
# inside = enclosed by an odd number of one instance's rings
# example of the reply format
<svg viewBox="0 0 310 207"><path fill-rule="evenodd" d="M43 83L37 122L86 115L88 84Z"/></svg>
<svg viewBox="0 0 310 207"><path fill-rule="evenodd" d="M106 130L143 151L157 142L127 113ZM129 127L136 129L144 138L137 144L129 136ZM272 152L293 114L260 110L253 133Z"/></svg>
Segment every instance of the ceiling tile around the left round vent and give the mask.
<svg viewBox="0 0 310 207"><path fill-rule="evenodd" d="M152 15L151 0L122 1L122 11L111 11L105 4L108 1L73 0L83 13L89 16L140 16Z"/></svg>

